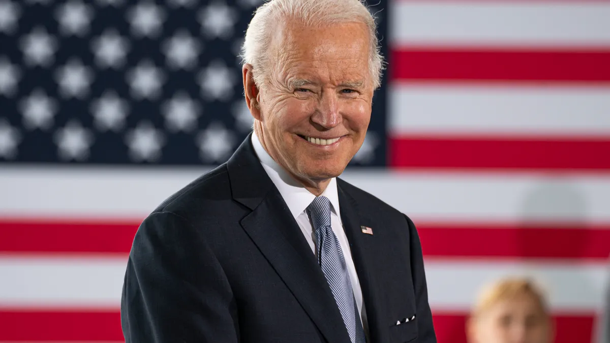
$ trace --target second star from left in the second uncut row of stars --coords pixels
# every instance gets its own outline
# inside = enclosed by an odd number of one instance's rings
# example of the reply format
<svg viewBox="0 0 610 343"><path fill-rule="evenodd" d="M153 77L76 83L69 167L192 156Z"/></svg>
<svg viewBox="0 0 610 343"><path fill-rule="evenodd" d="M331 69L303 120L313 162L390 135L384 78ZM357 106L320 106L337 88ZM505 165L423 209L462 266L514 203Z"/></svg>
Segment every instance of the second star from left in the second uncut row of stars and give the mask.
<svg viewBox="0 0 610 343"><path fill-rule="evenodd" d="M121 37L117 29L106 29L101 36L91 40L95 63L101 68L123 67L129 48L129 40Z"/></svg>

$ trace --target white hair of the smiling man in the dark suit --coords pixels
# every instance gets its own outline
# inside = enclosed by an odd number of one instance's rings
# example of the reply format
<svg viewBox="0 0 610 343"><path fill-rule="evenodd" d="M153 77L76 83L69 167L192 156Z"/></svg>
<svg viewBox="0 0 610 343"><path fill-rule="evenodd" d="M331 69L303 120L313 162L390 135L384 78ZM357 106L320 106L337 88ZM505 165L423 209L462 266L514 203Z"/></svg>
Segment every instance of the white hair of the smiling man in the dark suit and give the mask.
<svg viewBox="0 0 610 343"><path fill-rule="evenodd" d="M373 88L379 87L384 60L379 52L377 24L360 0L270 0L260 5L248 24L241 56L243 63L253 66L254 83L259 87L264 84L270 70L269 45L274 25L287 20L298 20L312 27L354 22L365 24L370 42L368 67Z"/></svg>

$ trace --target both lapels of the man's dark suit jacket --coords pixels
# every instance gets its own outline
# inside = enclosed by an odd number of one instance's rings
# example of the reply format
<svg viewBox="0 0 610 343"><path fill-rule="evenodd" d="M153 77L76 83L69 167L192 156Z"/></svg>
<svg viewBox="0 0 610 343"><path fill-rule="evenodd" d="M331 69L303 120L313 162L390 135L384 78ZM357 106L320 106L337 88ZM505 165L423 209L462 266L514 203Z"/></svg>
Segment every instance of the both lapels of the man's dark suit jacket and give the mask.
<svg viewBox="0 0 610 343"><path fill-rule="evenodd" d="M260 164L251 136L244 140L227 162L231 192L235 201L252 212L241 225L265 255L282 281L295 295L312 322L333 343L350 343L343 319L335 305L325 276L287 204ZM387 341L387 323L382 318L383 290L378 254L384 251L376 236L362 233L360 226L376 228L378 222L364 215L349 191L349 185L337 179L337 195L342 206L341 219L350 242L352 258L361 283L371 342Z"/></svg>

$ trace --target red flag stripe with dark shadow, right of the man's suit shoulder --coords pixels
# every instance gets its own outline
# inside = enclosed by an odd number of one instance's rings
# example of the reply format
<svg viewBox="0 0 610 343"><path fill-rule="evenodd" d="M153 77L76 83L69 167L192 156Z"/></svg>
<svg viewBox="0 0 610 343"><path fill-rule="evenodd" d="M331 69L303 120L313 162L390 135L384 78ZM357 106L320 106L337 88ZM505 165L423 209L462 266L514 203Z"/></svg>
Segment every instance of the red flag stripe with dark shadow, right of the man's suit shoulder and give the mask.
<svg viewBox="0 0 610 343"><path fill-rule="evenodd" d="M415 223L426 257L600 259L610 256L610 225Z"/></svg>

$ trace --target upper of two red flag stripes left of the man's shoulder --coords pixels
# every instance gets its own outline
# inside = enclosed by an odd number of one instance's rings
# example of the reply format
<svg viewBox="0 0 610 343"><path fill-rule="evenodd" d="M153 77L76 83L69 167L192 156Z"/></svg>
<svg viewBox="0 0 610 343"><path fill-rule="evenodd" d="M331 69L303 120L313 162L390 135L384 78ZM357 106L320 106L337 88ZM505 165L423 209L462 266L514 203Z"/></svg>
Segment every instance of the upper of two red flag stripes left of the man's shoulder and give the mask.
<svg viewBox="0 0 610 343"><path fill-rule="evenodd" d="M0 252L129 253L139 223L0 219Z"/></svg>

